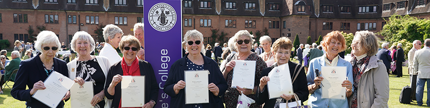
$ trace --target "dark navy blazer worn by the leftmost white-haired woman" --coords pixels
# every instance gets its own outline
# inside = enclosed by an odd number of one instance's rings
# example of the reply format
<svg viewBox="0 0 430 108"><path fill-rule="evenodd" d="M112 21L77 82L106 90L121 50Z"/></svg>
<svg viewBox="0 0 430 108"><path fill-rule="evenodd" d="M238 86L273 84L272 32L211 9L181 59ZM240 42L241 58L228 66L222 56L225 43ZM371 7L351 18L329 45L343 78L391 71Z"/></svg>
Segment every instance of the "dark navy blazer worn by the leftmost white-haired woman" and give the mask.
<svg viewBox="0 0 430 108"><path fill-rule="evenodd" d="M48 76L46 75L44 66L42 61L40 60L41 53L36 56L21 61L20 68L18 73L16 74L15 84L13 84L12 91L10 94L13 98L20 101L27 101L26 105L32 108L49 108L45 104L40 101L34 99L30 95L30 90L33 88L34 83L37 81L45 81ZM67 64L65 61L58 59L56 57L54 59L54 71L69 77L69 72L67 70ZM29 86L29 89L26 87ZM57 108L63 108L64 101L61 101Z"/></svg>

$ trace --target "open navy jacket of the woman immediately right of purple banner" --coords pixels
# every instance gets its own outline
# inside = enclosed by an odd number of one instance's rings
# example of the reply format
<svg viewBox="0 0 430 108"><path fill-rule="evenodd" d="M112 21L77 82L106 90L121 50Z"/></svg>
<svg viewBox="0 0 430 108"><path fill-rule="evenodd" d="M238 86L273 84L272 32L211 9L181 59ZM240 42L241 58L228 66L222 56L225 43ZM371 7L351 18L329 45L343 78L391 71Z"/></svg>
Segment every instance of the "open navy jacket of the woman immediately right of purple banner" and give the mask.
<svg viewBox="0 0 430 108"><path fill-rule="evenodd" d="M227 90L227 81L224 80L224 77L221 73L220 67L218 67L218 64L211 58L204 56L202 53L200 53L201 56L203 56L204 64L203 68L204 70L209 71L209 83L214 83L218 86L220 92L218 93L218 96L213 95L212 92L209 90L209 104L202 104L203 108L224 108L223 102L221 101L221 97ZM187 54L188 55L188 54ZM169 71L169 77L167 78L167 81L164 85L164 92L168 94L170 97L172 97L170 101L170 106L172 108L192 108L192 105L185 105L185 90L181 89L178 94L174 93L173 86L178 81L185 81L184 80L184 71L188 70L187 68L187 60L185 55L184 57L176 60ZM208 83L208 84L209 84Z"/></svg>

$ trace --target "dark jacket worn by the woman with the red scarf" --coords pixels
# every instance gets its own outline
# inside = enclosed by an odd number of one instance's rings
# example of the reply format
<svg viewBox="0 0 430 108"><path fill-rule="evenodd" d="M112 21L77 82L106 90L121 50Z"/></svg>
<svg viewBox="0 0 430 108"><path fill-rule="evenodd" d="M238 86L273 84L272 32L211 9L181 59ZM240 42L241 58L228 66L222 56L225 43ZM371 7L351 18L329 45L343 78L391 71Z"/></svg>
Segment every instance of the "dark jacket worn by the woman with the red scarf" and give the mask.
<svg viewBox="0 0 430 108"><path fill-rule="evenodd" d="M122 61L122 60L121 60ZM116 84L115 86L115 94L110 95L108 93L109 85L112 82L112 79L115 75L124 75L121 67L121 61L116 62L109 68L108 77L106 78L105 84L105 96L108 99L112 100L111 108L118 108L119 101L121 100L121 82ZM152 68L151 63L139 59L139 69L141 71L141 76L145 76L145 103L148 103L149 100L153 100L157 102L158 99L158 84L157 79L155 79L154 69Z"/></svg>

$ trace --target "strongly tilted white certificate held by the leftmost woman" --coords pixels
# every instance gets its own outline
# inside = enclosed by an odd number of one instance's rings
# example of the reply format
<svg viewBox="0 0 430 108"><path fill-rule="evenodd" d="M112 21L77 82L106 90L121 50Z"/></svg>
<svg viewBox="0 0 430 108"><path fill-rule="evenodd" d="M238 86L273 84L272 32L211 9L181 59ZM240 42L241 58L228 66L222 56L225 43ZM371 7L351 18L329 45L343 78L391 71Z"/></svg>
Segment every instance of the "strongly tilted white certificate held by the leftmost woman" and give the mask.
<svg viewBox="0 0 430 108"><path fill-rule="evenodd" d="M32 97L51 108L56 108L74 82L68 77L53 71L43 82L46 88L37 90Z"/></svg>

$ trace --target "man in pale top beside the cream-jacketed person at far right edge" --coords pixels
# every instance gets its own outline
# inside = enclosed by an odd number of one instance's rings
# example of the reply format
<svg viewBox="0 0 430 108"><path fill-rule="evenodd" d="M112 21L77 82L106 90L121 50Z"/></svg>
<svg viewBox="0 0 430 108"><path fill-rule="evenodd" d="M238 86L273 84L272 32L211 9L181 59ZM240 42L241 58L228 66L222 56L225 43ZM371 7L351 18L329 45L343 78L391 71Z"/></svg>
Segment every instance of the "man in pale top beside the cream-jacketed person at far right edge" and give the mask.
<svg viewBox="0 0 430 108"><path fill-rule="evenodd" d="M414 40L412 44L413 44L413 48L411 48L407 53L407 58L408 58L407 61L409 64L407 67L407 73L409 74L410 85L412 88L411 100L416 100L414 91L416 91L416 88L417 88L418 72L414 71L414 56L416 51L421 50L422 44L421 44L421 41L419 40Z"/></svg>

